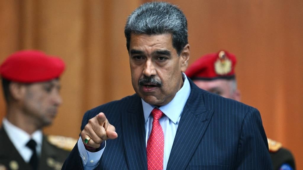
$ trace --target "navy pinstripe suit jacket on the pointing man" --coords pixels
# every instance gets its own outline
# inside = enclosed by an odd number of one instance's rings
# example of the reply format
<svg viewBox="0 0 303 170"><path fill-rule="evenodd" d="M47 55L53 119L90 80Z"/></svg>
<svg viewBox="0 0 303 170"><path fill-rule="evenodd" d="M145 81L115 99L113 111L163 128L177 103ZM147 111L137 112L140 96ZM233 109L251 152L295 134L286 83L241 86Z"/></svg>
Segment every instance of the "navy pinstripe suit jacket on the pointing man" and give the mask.
<svg viewBox="0 0 303 170"><path fill-rule="evenodd" d="M272 169L257 109L198 88L191 80L167 169ZM134 94L85 113L81 130L99 112L118 138L106 141L97 169L147 169L141 98ZM77 144L62 169L82 169Z"/></svg>

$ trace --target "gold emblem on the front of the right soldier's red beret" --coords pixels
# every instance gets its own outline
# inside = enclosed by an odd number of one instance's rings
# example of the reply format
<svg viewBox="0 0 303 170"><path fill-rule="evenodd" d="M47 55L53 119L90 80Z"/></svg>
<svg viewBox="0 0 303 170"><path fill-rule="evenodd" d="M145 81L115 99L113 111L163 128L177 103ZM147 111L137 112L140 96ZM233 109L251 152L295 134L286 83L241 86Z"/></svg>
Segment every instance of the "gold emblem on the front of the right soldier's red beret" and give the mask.
<svg viewBox="0 0 303 170"><path fill-rule="evenodd" d="M215 72L218 75L224 75L231 72L231 60L226 57L224 51L220 51L218 59L215 62Z"/></svg>

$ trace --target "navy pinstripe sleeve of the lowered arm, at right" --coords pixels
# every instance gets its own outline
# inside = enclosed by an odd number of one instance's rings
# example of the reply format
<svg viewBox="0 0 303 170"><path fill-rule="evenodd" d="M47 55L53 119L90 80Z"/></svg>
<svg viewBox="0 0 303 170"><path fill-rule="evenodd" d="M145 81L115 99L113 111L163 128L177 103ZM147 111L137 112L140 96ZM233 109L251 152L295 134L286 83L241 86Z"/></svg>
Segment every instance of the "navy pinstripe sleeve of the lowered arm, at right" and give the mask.
<svg viewBox="0 0 303 170"><path fill-rule="evenodd" d="M242 122L235 169L272 169L261 115L255 108L248 111Z"/></svg>

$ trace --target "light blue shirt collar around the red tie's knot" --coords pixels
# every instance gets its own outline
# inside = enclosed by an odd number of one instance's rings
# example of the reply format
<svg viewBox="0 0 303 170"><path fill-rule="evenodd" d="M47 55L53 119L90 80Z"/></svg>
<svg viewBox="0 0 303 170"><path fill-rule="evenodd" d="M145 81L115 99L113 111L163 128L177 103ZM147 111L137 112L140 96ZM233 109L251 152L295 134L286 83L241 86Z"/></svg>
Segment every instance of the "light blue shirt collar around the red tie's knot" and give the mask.
<svg viewBox="0 0 303 170"><path fill-rule="evenodd" d="M184 73L182 73L182 77L183 77L183 86L176 93L173 100L171 100L168 104L159 107L159 109L175 124L177 123L177 121L183 111L183 108L185 106L185 103L189 97L189 94L191 92L189 81ZM141 101L142 101L143 113L144 113L144 118L145 118L145 123L146 123L151 111L156 106L150 105L142 99L141 99Z"/></svg>

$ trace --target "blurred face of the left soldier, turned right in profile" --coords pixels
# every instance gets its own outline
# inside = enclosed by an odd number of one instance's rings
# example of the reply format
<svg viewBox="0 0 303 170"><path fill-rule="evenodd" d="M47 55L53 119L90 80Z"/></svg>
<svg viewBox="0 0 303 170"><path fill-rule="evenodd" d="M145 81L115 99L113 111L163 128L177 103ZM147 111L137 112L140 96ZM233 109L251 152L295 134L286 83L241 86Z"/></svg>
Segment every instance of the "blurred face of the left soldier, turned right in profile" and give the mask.
<svg viewBox="0 0 303 170"><path fill-rule="evenodd" d="M57 114L58 106L62 103L59 91L58 79L26 85L23 112L33 118L38 126L51 124Z"/></svg>

